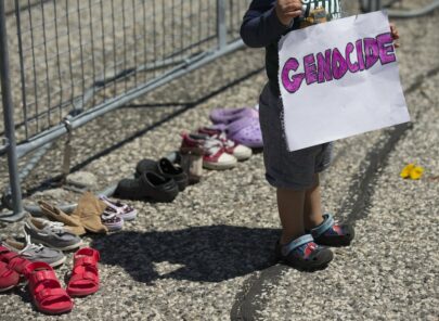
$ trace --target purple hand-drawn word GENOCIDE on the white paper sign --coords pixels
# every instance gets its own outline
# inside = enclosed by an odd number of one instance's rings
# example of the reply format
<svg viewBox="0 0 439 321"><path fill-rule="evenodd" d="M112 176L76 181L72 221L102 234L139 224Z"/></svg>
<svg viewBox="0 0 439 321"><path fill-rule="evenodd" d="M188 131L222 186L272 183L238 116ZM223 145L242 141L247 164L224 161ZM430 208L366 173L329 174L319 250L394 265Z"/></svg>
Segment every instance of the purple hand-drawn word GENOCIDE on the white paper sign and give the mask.
<svg viewBox="0 0 439 321"><path fill-rule="evenodd" d="M338 80L348 72L352 74L364 72L378 61L382 65L386 65L396 60L393 39L390 33L386 33L376 38L348 42L343 51L334 48L325 50L324 53L308 54L304 56L302 73L296 73L300 67L299 61L289 57L281 72L282 85L286 91L295 93L304 80L308 86Z"/></svg>

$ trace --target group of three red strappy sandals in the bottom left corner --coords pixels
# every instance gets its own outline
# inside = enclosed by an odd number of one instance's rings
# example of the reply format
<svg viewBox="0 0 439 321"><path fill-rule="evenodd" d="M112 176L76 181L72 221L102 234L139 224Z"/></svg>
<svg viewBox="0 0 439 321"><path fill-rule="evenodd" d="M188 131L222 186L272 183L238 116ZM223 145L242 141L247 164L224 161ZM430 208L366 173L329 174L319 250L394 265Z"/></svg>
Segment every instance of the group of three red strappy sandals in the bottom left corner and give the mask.
<svg viewBox="0 0 439 321"><path fill-rule="evenodd" d="M17 253L0 245L0 292L16 286L21 275L28 282L37 309L49 314L61 314L73 309L72 297L86 296L99 290L99 252L85 247L75 253L74 268L67 288L62 288L52 267L46 262L30 262Z"/></svg>

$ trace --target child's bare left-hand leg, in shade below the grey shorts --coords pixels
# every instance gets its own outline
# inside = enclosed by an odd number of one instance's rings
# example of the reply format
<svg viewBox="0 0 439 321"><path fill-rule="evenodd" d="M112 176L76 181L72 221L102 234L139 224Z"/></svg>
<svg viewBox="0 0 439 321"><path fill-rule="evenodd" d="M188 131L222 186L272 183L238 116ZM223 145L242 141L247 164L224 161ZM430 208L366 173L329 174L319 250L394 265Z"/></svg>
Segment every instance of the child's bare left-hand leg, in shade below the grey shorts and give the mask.
<svg viewBox="0 0 439 321"><path fill-rule="evenodd" d="M282 223L281 244L305 234L304 229L305 191L277 189L277 209Z"/></svg>

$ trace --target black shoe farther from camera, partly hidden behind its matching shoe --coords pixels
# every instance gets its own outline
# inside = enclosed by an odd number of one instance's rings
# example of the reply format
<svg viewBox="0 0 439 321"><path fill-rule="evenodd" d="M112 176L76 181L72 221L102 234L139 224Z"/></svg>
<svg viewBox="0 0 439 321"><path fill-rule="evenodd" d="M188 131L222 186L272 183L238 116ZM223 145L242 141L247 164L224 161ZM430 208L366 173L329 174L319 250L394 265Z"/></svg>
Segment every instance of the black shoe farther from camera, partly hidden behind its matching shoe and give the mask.
<svg viewBox="0 0 439 321"><path fill-rule="evenodd" d="M140 177L145 171L154 171L159 176L173 179L180 191L188 187L188 175L179 166L176 166L168 158L160 158L158 162L153 159L142 159L135 166L135 177Z"/></svg>

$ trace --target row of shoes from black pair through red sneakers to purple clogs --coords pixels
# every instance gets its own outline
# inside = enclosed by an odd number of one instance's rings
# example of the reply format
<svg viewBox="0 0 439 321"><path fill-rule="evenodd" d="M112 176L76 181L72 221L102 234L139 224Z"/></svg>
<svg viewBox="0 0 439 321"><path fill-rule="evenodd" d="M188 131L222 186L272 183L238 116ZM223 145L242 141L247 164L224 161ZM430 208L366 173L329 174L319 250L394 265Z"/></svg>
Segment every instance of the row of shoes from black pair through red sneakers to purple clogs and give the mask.
<svg viewBox="0 0 439 321"><path fill-rule="evenodd" d="M140 160L134 178L120 180L114 195L125 200L172 202L188 184L201 180L203 168L233 168L251 156L251 149L262 146L256 108L218 108L210 113L210 119L214 125L181 134L176 162L166 157Z"/></svg>

